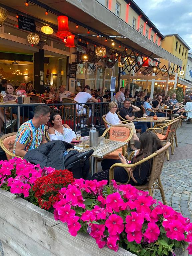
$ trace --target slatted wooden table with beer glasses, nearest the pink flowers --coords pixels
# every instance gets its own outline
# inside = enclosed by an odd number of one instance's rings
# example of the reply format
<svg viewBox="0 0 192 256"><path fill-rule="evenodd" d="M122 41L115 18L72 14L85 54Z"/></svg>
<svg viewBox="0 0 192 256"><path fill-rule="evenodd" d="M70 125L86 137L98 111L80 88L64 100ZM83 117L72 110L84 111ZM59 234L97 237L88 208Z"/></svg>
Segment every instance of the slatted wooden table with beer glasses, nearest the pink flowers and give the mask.
<svg viewBox="0 0 192 256"><path fill-rule="evenodd" d="M122 142L122 141L114 141L114 140L109 140L105 139L104 137L99 137L98 138L98 146L92 147L90 146L90 140L89 136L86 137L81 137L81 132L76 132L77 135L77 140L79 140L79 143L75 145L75 149L78 150L79 152L81 151L87 151L90 149L93 149L94 152L91 155L91 172L92 175L97 171L95 169L95 159L96 158L103 158L106 155L112 153L113 151L122 148L127 144L127 142Z"/></svg>

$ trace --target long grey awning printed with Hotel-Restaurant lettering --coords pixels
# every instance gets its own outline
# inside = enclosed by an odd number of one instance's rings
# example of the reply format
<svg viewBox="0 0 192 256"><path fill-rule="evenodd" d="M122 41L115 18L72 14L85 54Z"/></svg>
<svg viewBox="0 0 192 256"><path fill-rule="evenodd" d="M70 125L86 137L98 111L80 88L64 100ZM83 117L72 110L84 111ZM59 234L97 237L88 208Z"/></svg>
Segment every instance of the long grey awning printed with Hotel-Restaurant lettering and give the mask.
<svg viewBox="0 0 192 256"><path fill-rule="evenodd" d="M79 19L82 23L88 24L90 27L109 36L124 36L125 38L118 38L118 40L143 54L148 56L152 54L153 58L166 59L178 66L182 66L181 59L146 38L96 0L65 1L73 5L72 8L68 5L65 8L68 15L76 20ZM55 4L54 6L56 8Z"/></svg>

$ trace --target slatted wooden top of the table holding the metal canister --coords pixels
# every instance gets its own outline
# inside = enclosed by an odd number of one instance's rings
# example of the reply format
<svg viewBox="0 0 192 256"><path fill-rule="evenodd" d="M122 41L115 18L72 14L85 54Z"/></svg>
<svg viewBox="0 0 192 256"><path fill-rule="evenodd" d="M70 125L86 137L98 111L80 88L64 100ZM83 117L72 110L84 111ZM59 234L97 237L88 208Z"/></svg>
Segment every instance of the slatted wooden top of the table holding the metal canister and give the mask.
<svg viewBox="0 0 192 256"><path fill-rule="evenodd" d="M126 144L127 144L127 142L105 139L105 144L104 145L99 145L98 147L79 148L78 144L77 144L77 146L75 146L75 149L80 151L80 152L93 149L94 152L91 156L98 157L98 158L103 158L104 156L106 156L106 155L112 153L113 151L125 146Z"/></svg>

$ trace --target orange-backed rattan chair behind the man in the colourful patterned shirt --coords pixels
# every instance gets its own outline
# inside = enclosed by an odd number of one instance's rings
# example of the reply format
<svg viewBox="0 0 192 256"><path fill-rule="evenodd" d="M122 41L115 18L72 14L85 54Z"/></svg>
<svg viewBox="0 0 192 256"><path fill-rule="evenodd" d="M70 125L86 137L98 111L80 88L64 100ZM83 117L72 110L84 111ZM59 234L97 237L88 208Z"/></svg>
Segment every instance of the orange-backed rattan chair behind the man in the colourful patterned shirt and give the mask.
<svg viewBox="0 0 192 256"><path fill-rule="evenodd" d="M13 147L15 144L16 134L16 132L11 132L3 135L0 138L0 147L3 149L3 151L5 151L7 160L10 160L12 157L22 158L20 156L16 156L15 154L13 154Z"/></svg>

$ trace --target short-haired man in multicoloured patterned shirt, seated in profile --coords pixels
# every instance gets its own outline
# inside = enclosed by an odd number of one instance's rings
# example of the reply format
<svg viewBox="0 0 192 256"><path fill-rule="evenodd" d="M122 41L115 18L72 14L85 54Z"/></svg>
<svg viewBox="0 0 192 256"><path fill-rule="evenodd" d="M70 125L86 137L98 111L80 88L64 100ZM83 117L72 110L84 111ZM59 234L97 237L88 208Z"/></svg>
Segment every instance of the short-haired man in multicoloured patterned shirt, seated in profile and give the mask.
<svg viewBox="0 0 192 256"><path fill-rule="evenodd" d="M45 124L50 119L51 109L46 105L39 105L34 111L34 117L23 123L19 128L13 153L24 157L27 151L38 148L40 144L46 143Z"/></svg>

